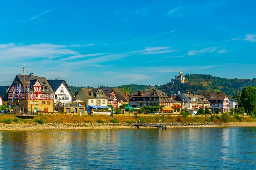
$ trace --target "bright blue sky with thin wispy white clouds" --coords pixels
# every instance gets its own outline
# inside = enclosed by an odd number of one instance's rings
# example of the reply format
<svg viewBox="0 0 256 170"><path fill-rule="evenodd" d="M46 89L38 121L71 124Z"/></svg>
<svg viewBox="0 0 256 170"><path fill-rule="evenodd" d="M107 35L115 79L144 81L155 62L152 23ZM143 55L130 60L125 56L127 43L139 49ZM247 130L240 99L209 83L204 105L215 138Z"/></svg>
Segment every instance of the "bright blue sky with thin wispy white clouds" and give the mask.
<svg viewBox="0 0 256 170"><path fill-rule="evenodd" d="M163 85L182 70L255 78L253 0L0 0L0 85Z"/></svg>

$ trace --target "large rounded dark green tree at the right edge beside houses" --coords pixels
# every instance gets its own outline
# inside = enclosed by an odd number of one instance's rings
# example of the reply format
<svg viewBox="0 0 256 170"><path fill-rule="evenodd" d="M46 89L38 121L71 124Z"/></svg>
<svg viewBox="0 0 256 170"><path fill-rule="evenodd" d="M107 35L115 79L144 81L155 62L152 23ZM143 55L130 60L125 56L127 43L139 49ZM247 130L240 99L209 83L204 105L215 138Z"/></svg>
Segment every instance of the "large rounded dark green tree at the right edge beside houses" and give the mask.
<svg viewBox="0 0 256 170"><path fill-rule="evenodd" d="M254 111L256 109L256 88L244 87L240 99L243 108L248 108L249 112Z"/></svg>

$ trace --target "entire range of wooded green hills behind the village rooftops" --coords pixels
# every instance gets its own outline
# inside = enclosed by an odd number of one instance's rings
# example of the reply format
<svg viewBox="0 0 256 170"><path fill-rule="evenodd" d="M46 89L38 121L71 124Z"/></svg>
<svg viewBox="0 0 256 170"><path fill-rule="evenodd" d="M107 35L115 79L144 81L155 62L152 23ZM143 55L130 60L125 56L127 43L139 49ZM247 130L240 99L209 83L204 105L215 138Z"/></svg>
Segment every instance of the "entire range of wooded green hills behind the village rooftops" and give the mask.
<svg viewBox="0 0 256 170"><path fill-rule="evenodd" d="M128 92L132 93L135 91L152 91L153 88L160 89L167 95L174 94L177 91L181 93L195 93L201 94L202 92L223 92L228 96L234 96L237 91L242 91L244 87L256 87L256 78L254 79L227 79L221 77L213 77L212 75L204 74L187 74L185 75L186 83L183 84L172 84L167 83L165 85L137 85L129 84L118 87L110 87L115 92ZM80 87L70 86L73 92L78 92ZM89 88L89 87L83 87Z"/></svg>

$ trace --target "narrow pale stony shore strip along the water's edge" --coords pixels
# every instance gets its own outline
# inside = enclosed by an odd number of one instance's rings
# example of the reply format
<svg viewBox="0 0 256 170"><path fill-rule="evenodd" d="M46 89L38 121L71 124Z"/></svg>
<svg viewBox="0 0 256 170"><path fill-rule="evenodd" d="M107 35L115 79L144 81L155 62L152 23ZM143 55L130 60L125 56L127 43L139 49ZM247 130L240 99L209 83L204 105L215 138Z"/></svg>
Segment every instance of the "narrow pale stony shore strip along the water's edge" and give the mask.
<svg viewBox="0 0 256 170"><path fill-rule="evenodd" d="M254 127L256 122L230 122L223 124L215 123L166 123L167 128L187 128L187 127ZM78 129L130 129L136 127L130 124L114 123L0 123L0 130L78 130Z"/></svg>

